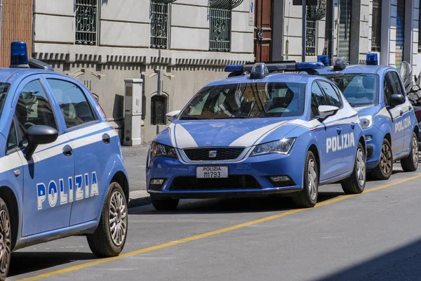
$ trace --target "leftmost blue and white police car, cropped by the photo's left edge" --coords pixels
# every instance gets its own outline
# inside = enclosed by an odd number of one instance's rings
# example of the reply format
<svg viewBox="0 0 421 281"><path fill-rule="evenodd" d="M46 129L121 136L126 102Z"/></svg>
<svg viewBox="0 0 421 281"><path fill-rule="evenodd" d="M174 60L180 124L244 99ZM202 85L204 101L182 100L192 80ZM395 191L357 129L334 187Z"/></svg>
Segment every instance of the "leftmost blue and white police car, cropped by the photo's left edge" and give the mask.
<svg viewBox="0 0 421 281"><path fill-rule="evenodd" d="M23 247L86 235L107 257L127 237L119 136L83 84L41 68L25 42L11 44L11 67L0 68L0 280Z"/></svg>

